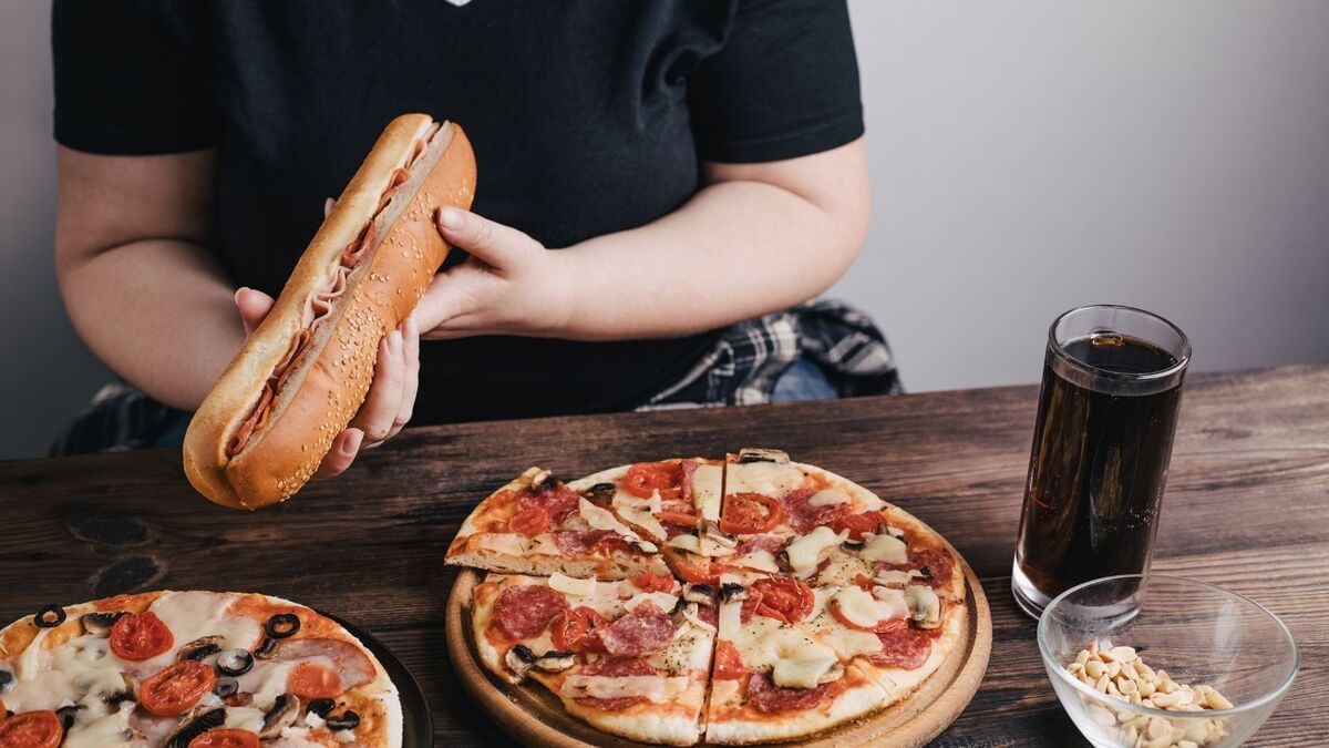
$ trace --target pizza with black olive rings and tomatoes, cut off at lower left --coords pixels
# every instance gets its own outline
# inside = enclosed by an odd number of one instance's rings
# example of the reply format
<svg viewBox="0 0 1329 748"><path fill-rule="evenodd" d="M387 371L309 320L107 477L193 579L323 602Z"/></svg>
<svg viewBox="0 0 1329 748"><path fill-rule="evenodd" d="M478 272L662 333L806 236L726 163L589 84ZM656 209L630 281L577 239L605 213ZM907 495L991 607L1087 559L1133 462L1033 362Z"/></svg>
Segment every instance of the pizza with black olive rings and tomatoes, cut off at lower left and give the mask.
<svg viewBox="0 0 1329 748"><path fill-rule="evenodd" d="M0 630L0 748L397 748L401 719L373 654L280 598L137 592Z"/></svg>

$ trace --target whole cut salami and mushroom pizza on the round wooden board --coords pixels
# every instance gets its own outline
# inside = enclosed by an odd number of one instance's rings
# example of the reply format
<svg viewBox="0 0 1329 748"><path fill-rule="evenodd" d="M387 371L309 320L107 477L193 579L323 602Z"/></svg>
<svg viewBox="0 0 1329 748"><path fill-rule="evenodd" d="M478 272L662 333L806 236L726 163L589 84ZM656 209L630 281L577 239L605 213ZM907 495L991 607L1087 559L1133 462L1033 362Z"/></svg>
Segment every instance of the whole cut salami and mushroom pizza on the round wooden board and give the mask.
<svg viewBox="0 0 1329 748"><path fill-rule="evenodd" d="M447 563L485 570L478 659L607 733L670 745L807 737L910 699L968 632L964 567L926 524L776 450L482 500Z"/></svg>

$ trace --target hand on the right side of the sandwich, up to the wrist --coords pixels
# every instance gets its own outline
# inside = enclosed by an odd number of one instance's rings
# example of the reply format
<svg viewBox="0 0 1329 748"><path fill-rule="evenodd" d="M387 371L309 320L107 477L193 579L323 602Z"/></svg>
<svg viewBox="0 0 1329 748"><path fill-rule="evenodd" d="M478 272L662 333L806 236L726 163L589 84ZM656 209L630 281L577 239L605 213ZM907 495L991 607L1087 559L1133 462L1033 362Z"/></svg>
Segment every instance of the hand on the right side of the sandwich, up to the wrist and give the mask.
<svg viewBox="0 0 1329 748"><path fill-rule="evenodd" d="M415 311L423 338L553 337L567 326L575 285L562 253L469 210L441 208L436 221L470 257L429 283Z"/></svg>

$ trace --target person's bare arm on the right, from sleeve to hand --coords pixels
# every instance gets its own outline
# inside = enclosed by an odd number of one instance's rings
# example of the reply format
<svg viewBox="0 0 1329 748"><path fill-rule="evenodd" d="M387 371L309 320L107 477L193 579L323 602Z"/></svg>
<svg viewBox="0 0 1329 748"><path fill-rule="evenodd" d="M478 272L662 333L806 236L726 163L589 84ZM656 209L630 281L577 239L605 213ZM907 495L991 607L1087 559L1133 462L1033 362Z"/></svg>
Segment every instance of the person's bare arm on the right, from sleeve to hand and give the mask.
<svg viewBox="0 0 1329 748"><path fill-rule="evenodd" d="M645 226L557 252L465 212L440 216L473 257L416 314L427 338L684 335L791 306L853 262L870 212L863 138L801 158L703 164L706 186Z"/></svg>

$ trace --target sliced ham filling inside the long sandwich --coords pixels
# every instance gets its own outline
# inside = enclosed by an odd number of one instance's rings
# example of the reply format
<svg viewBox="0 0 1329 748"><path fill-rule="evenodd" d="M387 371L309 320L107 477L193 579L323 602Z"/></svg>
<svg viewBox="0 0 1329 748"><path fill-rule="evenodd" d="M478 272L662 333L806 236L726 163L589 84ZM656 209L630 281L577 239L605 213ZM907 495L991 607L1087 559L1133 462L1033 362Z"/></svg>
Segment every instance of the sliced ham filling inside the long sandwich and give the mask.
<svg viewBox="0 0 1329 748"><path fill-rule="evenodd" d="M254 434L258 434L267 425L268 415L272 413L272 403L276 401L276 393L282 390L286 381L296 371L300 363L308 357L312 346L310 342L318 333L318 329L323 322L332 315L332 301L340 297L346 291L347 278L355 272L356 266L364 258L364 254L375 244L375 224L377 222L379 214L392 202L392 198L401 190L404 185L411 178L411 169L420 161L424 156L425 149L433 136L439 132L440 125L433 125L433 128L425 133L425 136L416 141L415 150L411 153L411 158L407 161L405 166L397 168L388 180L388 189L383 192L383 197L379 198L379 206L373 210L373 216L369 222L365 224L360 234L346 246L342 253L342 260L336 269L332 272L332 277L323 287L315 289L308 299L304 302L304 326L295 334L291 339L291 346L287 349L286 355L276 366L272 367L272 373L268 375L267 381L263 382L263 393L258 398L258 403L254 405L254 410L249 414L231 441L226 445L226 457L235 457L245 451Z"/></svg>

